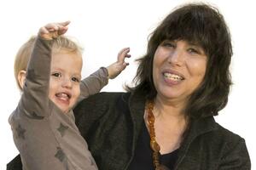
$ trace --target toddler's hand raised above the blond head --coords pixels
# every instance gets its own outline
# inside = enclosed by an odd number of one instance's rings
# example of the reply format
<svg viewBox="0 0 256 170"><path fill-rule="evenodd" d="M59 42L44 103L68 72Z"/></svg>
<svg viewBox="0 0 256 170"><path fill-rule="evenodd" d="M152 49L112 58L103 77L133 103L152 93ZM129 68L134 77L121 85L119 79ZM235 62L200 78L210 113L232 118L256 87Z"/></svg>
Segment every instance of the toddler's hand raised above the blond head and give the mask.
<svg viewBox="0 0 256 170"><path fill-rule="evenodd" d="M46 40L57 38L67 32L67 25L69 25L69 23L70 21L49 23L39 29L38 36Z"/></svg>

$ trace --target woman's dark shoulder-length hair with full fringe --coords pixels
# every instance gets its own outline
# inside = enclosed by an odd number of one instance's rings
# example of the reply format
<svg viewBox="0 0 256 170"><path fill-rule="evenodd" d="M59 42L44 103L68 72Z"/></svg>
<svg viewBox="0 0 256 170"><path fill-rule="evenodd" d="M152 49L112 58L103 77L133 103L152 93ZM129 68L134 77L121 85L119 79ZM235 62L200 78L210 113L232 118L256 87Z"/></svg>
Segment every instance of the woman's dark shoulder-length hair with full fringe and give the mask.
<svg viewBox="0 0 256 170"><path fill-rule="evenodd" d="M156 48L165 40L185 40L200 45L207 54L207 71L201 85L190 95L184 108L189 118L218 115L228 102L230 93L230 31L217 8L204 3L189 3L176 8L150 35L147 53L139 62L136 85L128 91L143 93L154 99L153 59Z"/></svg>

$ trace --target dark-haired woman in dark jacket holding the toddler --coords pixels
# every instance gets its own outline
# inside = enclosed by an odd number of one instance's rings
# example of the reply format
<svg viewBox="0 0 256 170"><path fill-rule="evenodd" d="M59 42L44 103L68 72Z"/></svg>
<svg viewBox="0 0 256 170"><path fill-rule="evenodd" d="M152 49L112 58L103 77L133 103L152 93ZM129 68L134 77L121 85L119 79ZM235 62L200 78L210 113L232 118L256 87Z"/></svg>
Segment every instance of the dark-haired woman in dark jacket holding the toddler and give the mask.
<svg viewBox="0 0 256 170"><path fill-rule="evenodd" d="M75 109L99 169L250 169L244 139L213 119L228 101L231 55L218 9L190 3L167 15L138 59L136 86Z"/></svg>

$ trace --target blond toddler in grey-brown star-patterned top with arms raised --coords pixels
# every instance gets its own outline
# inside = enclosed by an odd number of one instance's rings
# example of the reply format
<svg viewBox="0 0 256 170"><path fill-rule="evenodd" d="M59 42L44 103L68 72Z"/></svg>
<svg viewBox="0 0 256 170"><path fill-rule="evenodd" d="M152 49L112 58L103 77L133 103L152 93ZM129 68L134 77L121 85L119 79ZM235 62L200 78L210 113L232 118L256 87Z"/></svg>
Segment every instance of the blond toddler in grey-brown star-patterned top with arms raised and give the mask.
<svg viewBox="0 0 256 170"><path fill-rule="evenodd" d="M130 49L124 48L117 62L81 81L81 49L63 36L68 24L43 26L16 56L15 78L22 94L9 123L26 170L97 169L75 125L73 107L128 65Z"/></svg>

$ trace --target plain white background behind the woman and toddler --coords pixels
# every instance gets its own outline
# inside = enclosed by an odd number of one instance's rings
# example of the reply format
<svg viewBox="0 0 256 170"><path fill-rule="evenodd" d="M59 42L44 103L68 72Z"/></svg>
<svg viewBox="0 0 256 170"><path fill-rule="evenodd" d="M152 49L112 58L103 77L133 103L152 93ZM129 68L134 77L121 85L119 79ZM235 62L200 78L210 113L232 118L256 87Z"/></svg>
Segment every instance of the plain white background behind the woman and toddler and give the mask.
<svg viewBox="0 0 256 170"><path fill-rule="evenodd" d="M134 59L146 51L148 34L178 4L175 0L8 0L0 3L0 169L18 151L13 143L8 123L20 92L13 71L17 50L35 35L40 26L49 22L71 20L67 35L76 37L84 47L83 76L102 65L109 65L120 48L130 47L129 67L102 91L123 91L137 68ZM206 1L203 1L206 2ZM217 121L246 139L252 164L256 162L255 138L255 38L256 10L253 1L211 0L230 26L234 55L231 65L234 85L229 104L220 112ZM253 146L254 145L254 146ZM256 168L254 166L254 168Z"/></svg>

